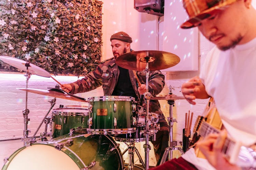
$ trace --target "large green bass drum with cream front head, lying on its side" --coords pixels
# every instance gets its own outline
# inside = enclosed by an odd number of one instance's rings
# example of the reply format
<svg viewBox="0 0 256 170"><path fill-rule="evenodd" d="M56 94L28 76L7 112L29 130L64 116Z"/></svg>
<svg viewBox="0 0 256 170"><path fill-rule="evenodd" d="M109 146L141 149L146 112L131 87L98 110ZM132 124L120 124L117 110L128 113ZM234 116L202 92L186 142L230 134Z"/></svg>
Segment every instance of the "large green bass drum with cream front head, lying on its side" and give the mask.
<svg viewBox="0 0 256 170"><path fill-rule="evenodd" d="M123 170L124 161L110 136L76 133L18 149L3 166L3 170L17 169Z"/></svg>

